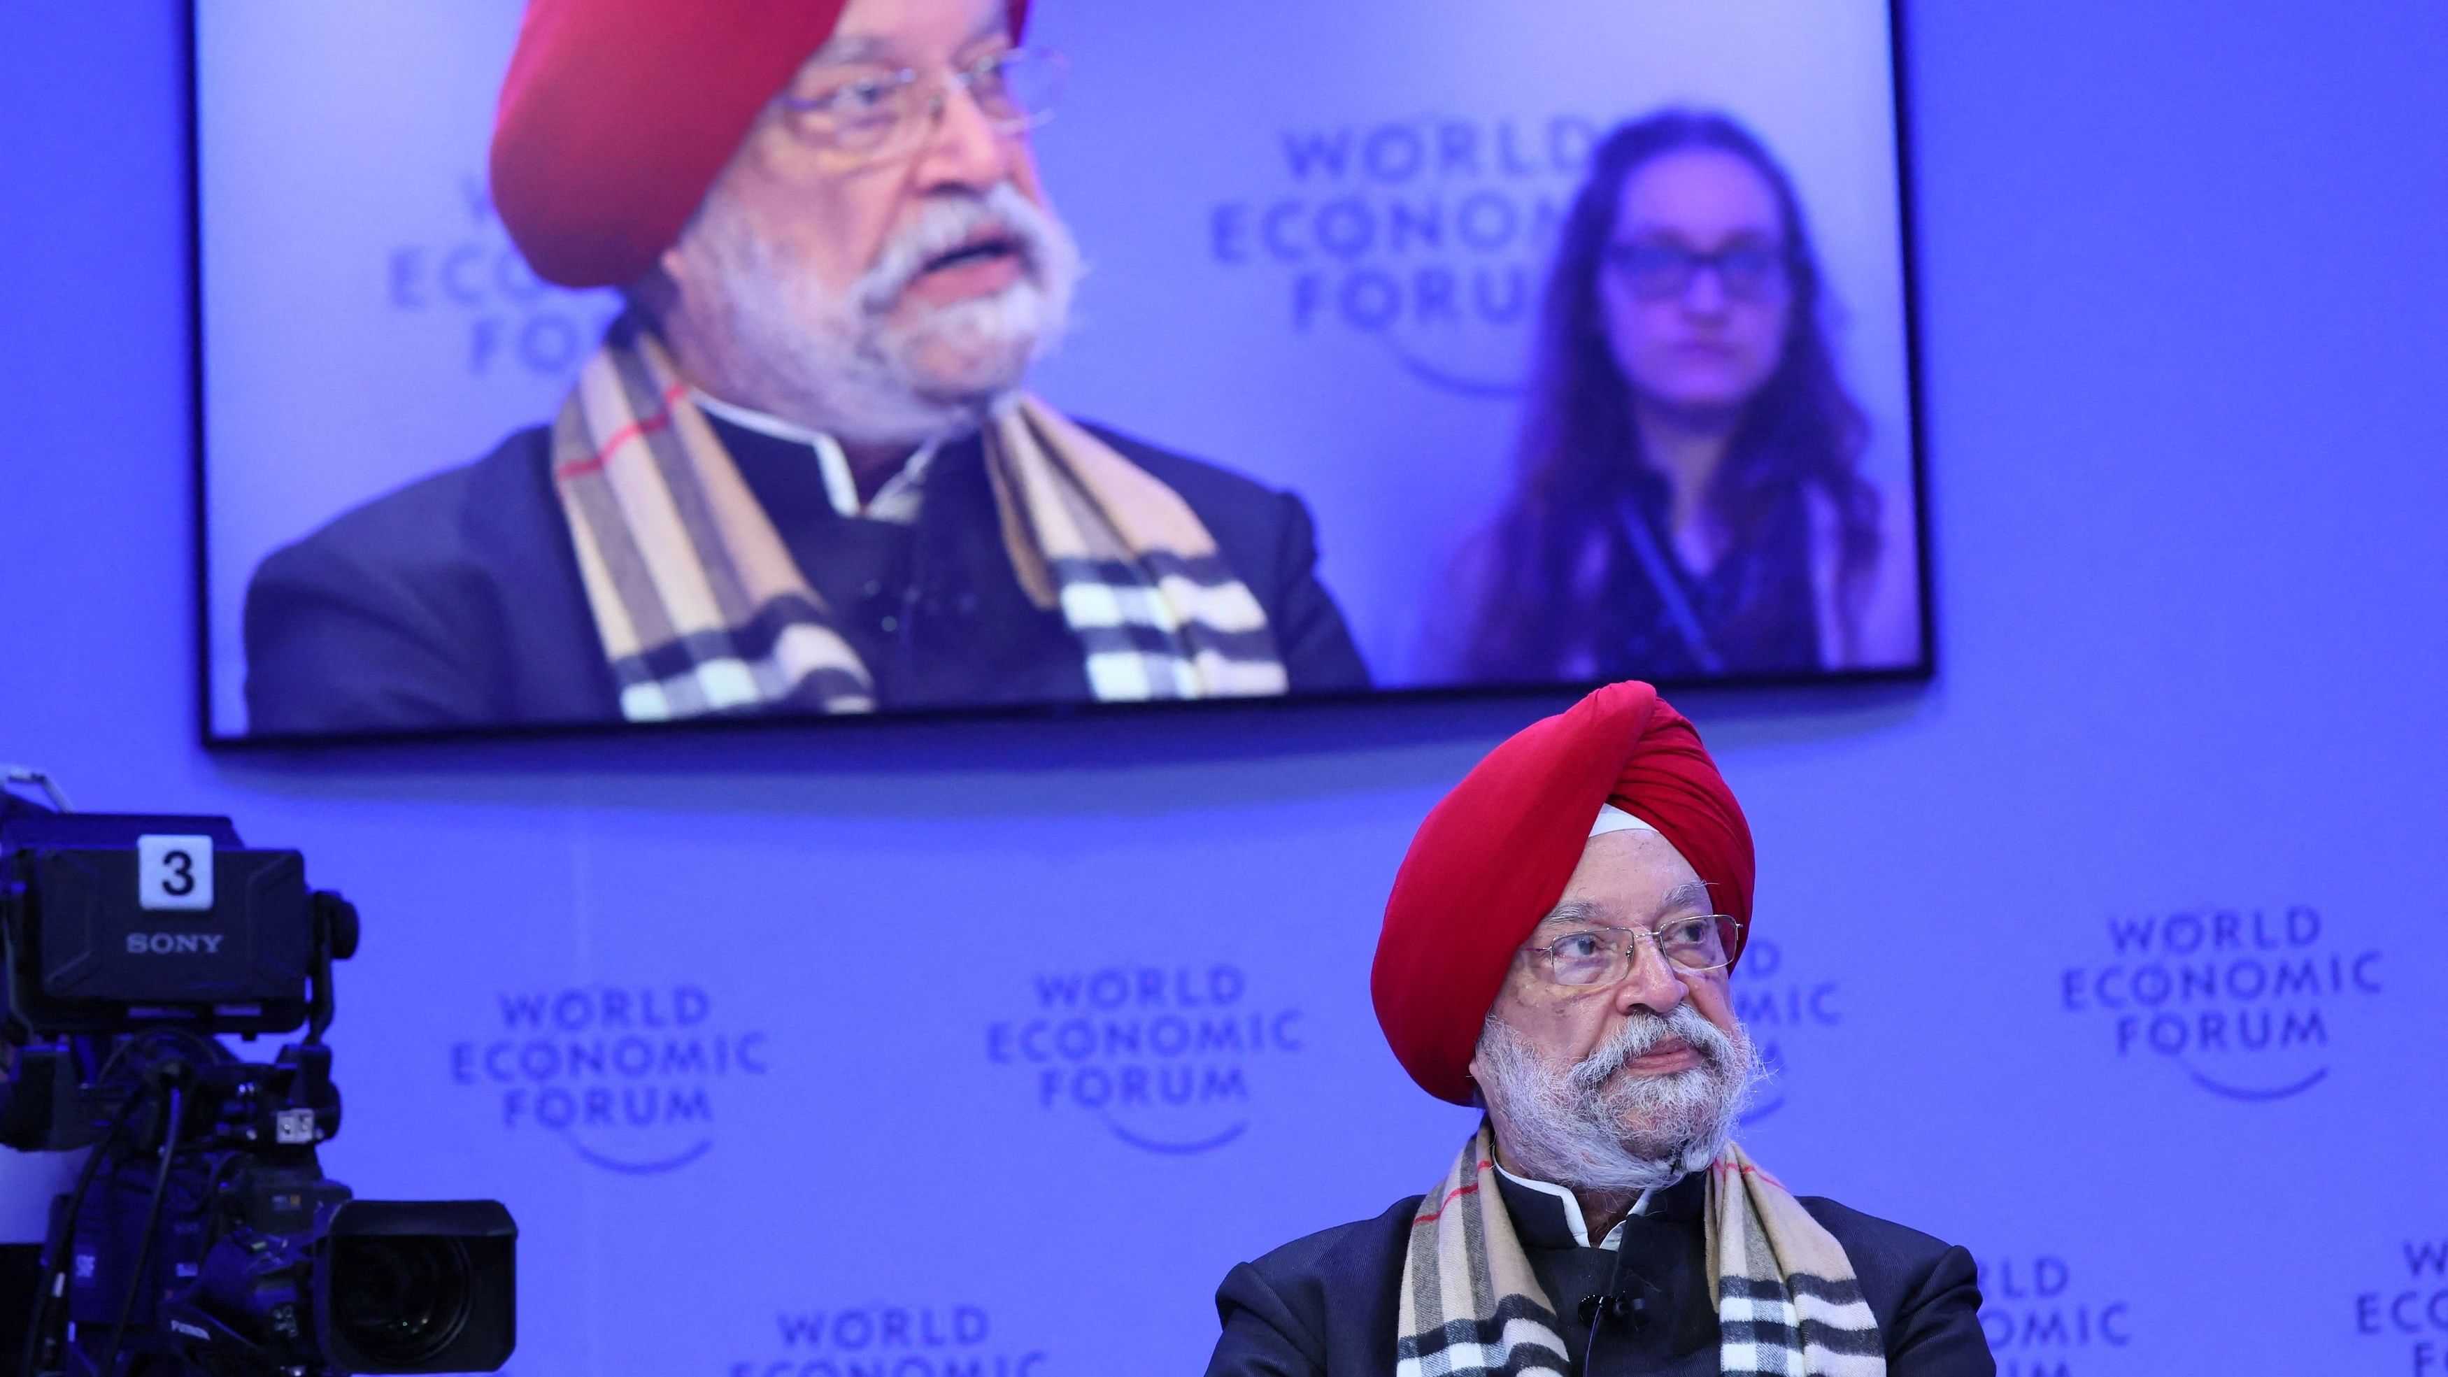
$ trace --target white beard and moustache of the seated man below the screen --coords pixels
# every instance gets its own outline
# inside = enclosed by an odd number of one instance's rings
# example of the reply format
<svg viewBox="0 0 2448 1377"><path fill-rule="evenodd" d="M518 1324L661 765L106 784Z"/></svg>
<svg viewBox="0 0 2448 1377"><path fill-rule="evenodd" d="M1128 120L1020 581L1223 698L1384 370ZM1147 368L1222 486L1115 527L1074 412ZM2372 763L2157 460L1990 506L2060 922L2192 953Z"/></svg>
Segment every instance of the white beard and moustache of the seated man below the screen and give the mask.
<svg viewBox="0 0 2448 1377"><path fill-rule="evenodd" d="M1625 1061L1667 1037L1682 1037L1701 1064L1667 1076L1618 1076ZM1765 1079L1748 1032L1728 1035L1687 1003L1665 1017L1635 1015L1572 1066L1542 1059L1520 1032L1488 1015L1476 1059L1479 1093L1510 1130L1513 1159L1506 1164L1577 1191L1650 1191L1699 1172L1723 1152Z"/></svg>

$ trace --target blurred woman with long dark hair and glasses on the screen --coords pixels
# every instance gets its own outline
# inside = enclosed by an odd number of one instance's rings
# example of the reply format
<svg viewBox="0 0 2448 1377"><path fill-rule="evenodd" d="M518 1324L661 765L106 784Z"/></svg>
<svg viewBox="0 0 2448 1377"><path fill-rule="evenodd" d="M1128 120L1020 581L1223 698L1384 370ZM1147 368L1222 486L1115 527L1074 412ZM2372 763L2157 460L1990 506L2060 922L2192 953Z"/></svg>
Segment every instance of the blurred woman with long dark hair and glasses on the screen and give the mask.
<svg viewBox="0 0 2448 1377"><path fill-rule="evenodd" d="M1718 113L1618 127L1559 227L1520 470L1457 565L1449 670L1912 663L1909 602L1895 616L1880 604L1900 589L1875 587L1885 504L1858 472L1865 438L1785 169Z"/></svg>

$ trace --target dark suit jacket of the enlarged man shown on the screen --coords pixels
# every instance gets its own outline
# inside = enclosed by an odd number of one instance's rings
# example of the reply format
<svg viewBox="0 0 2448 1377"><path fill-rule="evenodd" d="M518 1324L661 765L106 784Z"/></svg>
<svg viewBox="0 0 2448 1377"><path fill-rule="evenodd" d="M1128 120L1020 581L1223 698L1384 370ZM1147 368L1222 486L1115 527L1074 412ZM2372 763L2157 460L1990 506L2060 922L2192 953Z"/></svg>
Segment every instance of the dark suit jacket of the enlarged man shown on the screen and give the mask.
<svg viewBox="0 0 2448 1377"><path fill-rule="evenodd" d="M1077 638L1011 572L974 435L935 455L916 526L891 526L837 516L805 445L715 430L884 707L1089 700ZM1297 497L1097 433L1200 514L1293 692L1366 687ZM274 550L245 631L255 734L619 722L541 426Z"/></svg>

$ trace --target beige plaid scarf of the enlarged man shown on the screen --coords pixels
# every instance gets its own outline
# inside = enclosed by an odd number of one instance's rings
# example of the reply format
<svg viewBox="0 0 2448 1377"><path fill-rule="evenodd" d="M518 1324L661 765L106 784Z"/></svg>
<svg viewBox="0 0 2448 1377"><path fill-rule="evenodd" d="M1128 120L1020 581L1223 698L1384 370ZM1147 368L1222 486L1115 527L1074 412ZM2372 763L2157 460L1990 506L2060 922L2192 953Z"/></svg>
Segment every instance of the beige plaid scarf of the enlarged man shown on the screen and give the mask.
<svg viewBox="0 0 2448 1377"><path fill-rule="evenodd" d="M1031 396L987 472L1011 567L1099 702L1285 692L1266 609L1177 492ZM874 712L876 687L651 330L622 318L553 421L553 489L629 722Z"/></svg>

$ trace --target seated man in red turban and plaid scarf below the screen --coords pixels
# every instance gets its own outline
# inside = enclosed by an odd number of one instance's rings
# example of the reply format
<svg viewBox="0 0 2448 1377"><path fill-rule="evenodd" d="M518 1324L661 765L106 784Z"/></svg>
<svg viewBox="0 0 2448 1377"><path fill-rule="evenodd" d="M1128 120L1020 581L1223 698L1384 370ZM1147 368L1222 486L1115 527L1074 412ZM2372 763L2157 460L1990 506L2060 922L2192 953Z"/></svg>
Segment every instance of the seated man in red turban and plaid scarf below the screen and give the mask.
<svg viewBox="0 0 2448 1377"><path fill-rule="evenodd" d="M1733 1128L1750 827L1650 685L1498 746L1420 824L1373 993L1486 1118L1425 1196L1234 1267L1209 1377L1990 1377L1961 1247L1792 1196Z"/></svg>

